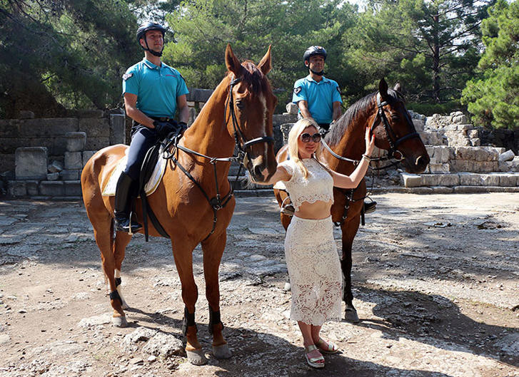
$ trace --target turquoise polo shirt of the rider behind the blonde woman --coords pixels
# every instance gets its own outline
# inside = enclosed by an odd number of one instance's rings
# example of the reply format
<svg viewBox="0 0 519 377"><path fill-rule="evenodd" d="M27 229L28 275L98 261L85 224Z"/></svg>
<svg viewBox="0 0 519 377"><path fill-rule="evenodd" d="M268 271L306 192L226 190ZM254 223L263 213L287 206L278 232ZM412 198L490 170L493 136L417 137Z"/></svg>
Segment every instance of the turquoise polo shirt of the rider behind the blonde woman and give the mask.
<svg viewBox="0 0 519 377"><path fill-rule="evenodd" d="M310 75L293 84L292 102L298 103L300 100L308 102L308 110L317 123L328 124L333 120L333 103L343 103L341 89L336 81L323 76L317 82Z"/></svg>

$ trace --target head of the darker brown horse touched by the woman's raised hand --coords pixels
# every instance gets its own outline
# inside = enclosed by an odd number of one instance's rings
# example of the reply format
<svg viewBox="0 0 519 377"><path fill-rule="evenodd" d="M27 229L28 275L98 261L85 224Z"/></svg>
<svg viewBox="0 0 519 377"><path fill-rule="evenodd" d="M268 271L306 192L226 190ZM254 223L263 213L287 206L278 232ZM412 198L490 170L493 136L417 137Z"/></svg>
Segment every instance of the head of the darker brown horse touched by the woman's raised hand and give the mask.
<svg viewBox="0 0 519 377"><path fill-rule="evenodd" d="M371 125L376 146L388 150L390 157L401 160L407 172L423 172L430 158L405 108L400 84L391 90L382 79L376 101L378 113L373 116Z"/></svg>

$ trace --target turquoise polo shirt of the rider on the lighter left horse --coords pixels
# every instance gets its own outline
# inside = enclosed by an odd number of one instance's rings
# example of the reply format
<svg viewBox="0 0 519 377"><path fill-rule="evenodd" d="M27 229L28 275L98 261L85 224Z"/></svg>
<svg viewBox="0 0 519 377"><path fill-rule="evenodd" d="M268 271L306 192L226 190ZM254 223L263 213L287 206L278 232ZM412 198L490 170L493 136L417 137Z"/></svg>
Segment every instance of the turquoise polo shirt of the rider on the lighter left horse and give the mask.
<svg viewBox="0 0 519 377"><path fill-rule="evenodd" d="M167 64L161 66L143 58L123 75L123 95L137 95L137 108L148 116L173 118L176 98L189 93L181 74Z"/></svg>

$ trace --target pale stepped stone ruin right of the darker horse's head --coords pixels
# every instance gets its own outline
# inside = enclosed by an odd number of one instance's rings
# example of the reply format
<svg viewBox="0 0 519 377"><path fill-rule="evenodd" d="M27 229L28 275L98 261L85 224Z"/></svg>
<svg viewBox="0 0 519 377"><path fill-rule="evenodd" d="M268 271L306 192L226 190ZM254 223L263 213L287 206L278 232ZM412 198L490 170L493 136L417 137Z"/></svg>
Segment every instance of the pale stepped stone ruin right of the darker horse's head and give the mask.
<svg viewBox="0 0 519 377"><path fill-rule="evenodd" d="M401 173L405 187L518 186L519 156L513 150L481 145L480 130L462 112L431 117L409 113L427 148L430 164L423 174Z"/></svg>

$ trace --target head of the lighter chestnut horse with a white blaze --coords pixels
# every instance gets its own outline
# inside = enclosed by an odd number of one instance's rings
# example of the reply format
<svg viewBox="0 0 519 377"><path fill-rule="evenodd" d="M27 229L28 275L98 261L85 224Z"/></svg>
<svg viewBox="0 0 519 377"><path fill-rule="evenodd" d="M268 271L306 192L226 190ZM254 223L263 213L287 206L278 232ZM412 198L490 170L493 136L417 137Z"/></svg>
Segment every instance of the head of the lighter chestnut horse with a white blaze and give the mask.
<svg viewBox="0 0 519 377"><path fill-rule="evenodd" d="M272 115L278 99L266 78L271 71L271 47L256 66L252 61L240 63L231 46L226 48L230 91L226 124L235 135L242 153L243 165L257 182L268 180L276 172L273 148ZM268 171L263 176L263 170Z"/></svg>

